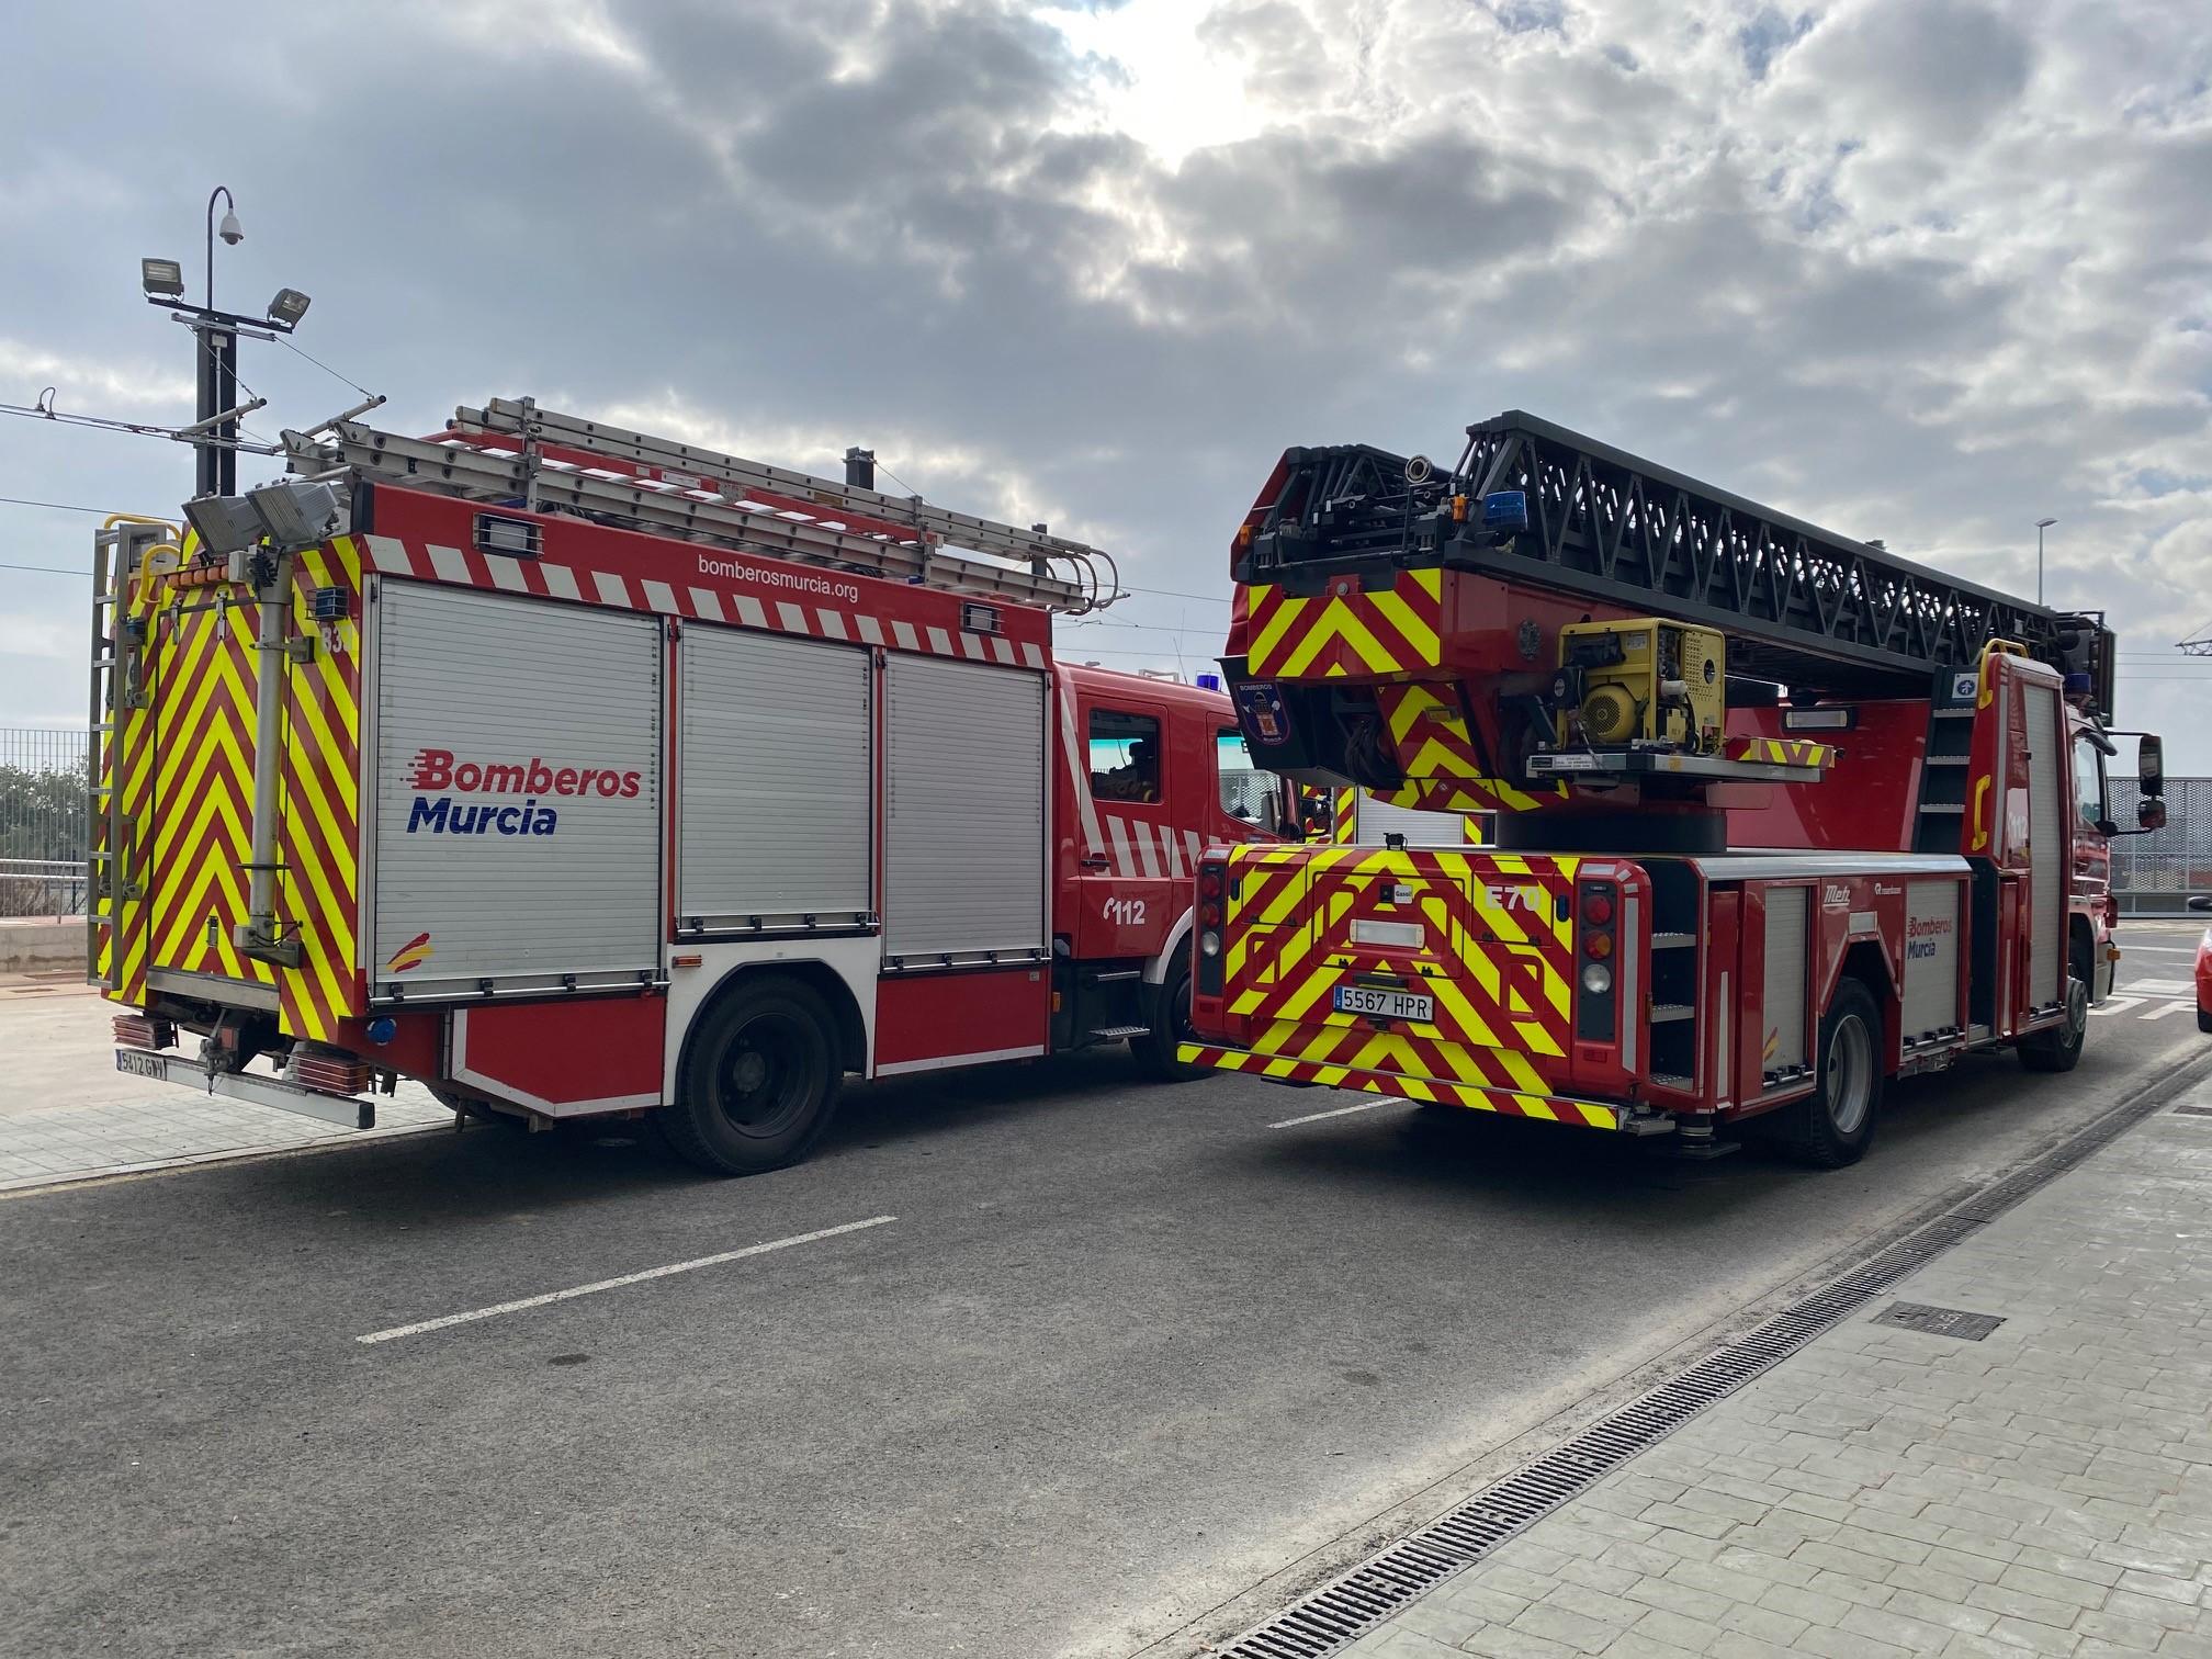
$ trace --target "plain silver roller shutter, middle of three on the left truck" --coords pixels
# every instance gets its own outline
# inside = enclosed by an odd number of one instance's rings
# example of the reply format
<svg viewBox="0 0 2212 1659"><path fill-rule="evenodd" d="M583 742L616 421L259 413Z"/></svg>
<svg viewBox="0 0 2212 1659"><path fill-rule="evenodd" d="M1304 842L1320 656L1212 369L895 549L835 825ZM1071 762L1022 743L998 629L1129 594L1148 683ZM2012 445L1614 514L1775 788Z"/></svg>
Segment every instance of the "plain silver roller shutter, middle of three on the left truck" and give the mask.
<svg viewBox="0 0 2212 1659"><path fill-rule="evenodd" d="M690 626L677 644L677 916L852 925L869 909L869 653Z"/></svg>

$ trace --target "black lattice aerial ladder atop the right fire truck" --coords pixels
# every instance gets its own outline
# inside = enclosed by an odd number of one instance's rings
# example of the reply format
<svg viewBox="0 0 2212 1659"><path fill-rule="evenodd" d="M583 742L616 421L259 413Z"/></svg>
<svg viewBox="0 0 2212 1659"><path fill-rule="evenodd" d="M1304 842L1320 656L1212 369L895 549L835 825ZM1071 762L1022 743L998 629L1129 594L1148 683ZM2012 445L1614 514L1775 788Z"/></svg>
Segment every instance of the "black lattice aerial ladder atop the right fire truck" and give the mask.
<svg viewBox="0 0 2212 1659"><path fill-rule="evenodd" d="M2075 617L1823 531L1517 409L1467 429L1453 489L1522 491L1528 533L1475 562L1542 566L1593 597L1728 633L1730 672L1856 695L1924 695L2011 639L2093 675L2112 706L2112 637Z"/></svg>

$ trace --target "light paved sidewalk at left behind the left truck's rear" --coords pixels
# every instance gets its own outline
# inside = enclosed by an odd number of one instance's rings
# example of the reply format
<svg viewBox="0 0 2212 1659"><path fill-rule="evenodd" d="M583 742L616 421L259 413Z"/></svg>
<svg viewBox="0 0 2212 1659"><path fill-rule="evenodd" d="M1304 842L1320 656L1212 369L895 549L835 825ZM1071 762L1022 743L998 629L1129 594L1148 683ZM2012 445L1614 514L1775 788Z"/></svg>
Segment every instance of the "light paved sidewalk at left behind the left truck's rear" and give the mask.
<svg viewBox="0 0 2212 1659"><path fill-rule="evenodd" d="M352 1130L274 1106L195 1095L115 1073L111 1009L82 987L13 980L0 998L0 1194L250 1152L411 1135L453 1115L418 1084Z"/></svg>

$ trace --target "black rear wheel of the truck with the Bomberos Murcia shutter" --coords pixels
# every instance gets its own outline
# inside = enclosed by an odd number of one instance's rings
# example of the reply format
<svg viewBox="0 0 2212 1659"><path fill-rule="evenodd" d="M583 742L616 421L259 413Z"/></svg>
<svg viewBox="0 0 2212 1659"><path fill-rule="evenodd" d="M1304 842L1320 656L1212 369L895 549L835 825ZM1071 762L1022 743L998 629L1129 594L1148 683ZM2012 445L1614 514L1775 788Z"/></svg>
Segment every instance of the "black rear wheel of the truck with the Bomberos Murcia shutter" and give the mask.
<svg viewBox="0 0 2212 1659"><path fill-rule="evenodd" d="M686 1164L761 1175L814 1150L843 1086L836 1020L821 995L799 980L748 975L692 1029L675 1104L653 1121Z"/></svg>

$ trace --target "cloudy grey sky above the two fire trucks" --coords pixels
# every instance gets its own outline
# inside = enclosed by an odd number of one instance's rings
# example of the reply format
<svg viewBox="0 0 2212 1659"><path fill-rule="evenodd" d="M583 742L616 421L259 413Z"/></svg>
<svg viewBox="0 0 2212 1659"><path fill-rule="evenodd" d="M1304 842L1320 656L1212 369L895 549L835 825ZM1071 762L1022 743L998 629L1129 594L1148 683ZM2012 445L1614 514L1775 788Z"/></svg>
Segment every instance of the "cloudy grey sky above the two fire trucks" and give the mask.
<svg viewBox="0 0 2212 1659"><path fill-rule="evenodd" d="M2199 0L29 4L0 403L190 418L139 254L314 296L261 431L535 394L1108 544L1071 655L1194 670L1287 442L1524 407L2104 606L2212 772ZM246 458L241 476L272 462ZM175 511L179 445L0 418L0 495ZM82 571L84 513L0 507ZM0 568L0 723L82 723L84 584ZM2192 677L2194 675L2194 677Z"/></svg>

